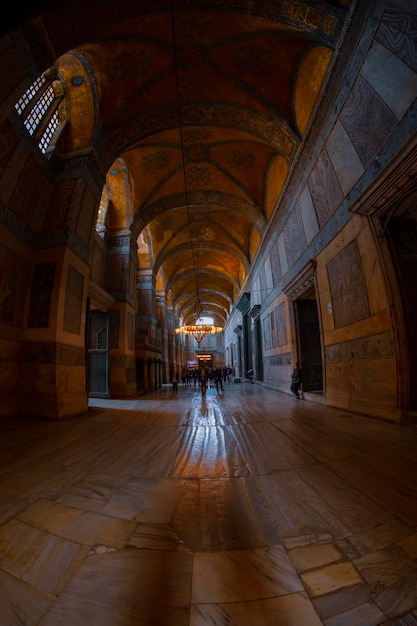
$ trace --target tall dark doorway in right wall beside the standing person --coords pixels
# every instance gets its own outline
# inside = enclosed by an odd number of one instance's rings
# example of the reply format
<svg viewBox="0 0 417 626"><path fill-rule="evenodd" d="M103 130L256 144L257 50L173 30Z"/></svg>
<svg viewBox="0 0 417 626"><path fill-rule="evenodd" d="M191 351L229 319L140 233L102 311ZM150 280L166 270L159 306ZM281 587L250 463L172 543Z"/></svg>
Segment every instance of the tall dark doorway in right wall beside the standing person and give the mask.
<svg viewBox="0 0 417 626"><path fill-rule="evenodd" d="M303 370L303 391L323 391L320 326L315 298L295 301L299 361Z"/></svg>

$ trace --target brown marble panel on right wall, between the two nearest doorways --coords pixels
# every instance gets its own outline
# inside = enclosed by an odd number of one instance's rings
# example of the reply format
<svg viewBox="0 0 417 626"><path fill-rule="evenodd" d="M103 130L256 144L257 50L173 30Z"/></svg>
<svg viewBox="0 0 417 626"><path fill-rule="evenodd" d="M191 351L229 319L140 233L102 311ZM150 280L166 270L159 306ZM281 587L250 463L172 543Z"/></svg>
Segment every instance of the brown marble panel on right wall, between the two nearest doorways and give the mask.
<svg viewBox="0 0 417 626"><path fill-rule="evenodd" d="M327 264L335 328L369 316L369 304L356 242Z"/></svg>

